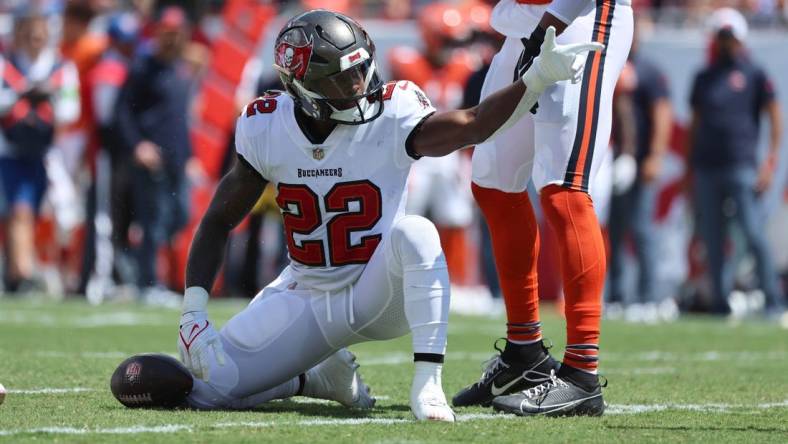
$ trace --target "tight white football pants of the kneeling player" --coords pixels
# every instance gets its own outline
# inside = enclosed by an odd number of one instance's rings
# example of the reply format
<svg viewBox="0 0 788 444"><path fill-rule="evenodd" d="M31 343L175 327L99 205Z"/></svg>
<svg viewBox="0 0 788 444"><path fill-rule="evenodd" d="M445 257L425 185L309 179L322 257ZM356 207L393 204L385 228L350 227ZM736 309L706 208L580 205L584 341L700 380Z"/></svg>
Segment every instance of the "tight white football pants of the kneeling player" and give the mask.
<svg viewBox="0 0 788 444"><path fill-rule="evenodd" d="M342 347L413 333L414 353L444 354L449 275L435 226L404 216L384 235L355 284L299 287L285 269L220 335L225 364L195 378L196 408L251 408L292 396L298 377Z"/></svg>

